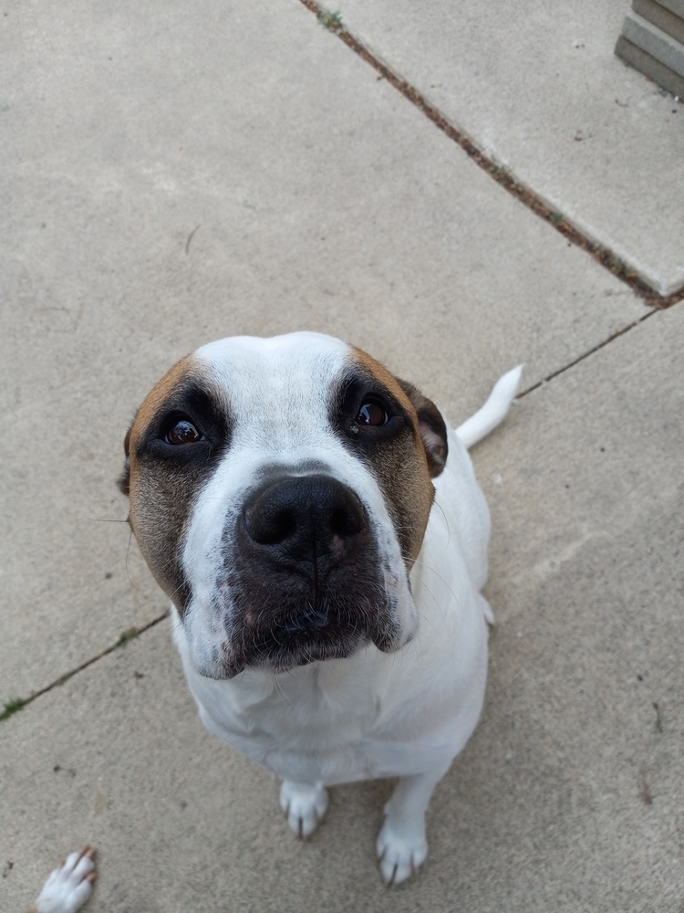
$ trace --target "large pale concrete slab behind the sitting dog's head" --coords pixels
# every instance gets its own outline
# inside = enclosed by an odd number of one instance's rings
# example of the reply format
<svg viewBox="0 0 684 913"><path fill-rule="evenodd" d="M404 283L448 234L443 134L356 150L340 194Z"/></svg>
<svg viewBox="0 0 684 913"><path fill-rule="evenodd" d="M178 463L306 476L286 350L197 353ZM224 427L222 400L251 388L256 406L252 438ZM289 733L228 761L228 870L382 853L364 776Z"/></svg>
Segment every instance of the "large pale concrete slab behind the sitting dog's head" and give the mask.
<svg viewBox="0 0 684 913"><path fill-rule="evenodd" d="M164 611L113 483L185 352L333 332L457 420L647 312L299 3L2 21L0 707Z"/></svg>

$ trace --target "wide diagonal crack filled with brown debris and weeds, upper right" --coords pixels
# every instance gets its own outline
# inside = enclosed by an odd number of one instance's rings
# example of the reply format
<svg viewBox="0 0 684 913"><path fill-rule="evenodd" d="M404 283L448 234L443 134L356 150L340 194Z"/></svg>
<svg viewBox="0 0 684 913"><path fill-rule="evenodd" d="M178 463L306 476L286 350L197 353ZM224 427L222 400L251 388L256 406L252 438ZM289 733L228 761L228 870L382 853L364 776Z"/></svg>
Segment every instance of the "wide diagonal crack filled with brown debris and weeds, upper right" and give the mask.
<svg viewBox="0 0 684 913"><path fill-rule="evenodd" d="M351 34L344 26L338 14L331 14L324 6L321 6L316 0L299 0L306 6L310 12L316 15L318 21L328 28L332 34L336 35L340 41L343 41L355 54L364 60L368 65L374 68L379 75L386 79L391 86L397 89L411 104L415 105L432 123L446 134L453 142L457 143L463 152L472 159L472 162L479 165L483 171L487 172L497 184L512 194L528 209L531 209L535 215L543 218L548 225L552 226L557 232L560 232L575 247L580 247L586 251L590 257L593 257L602 267L606 268L613 276L624 282L632 291L651 308L664 310L673 304L677 304L684 299L684 286L678 291L668 296L658 294L652 289L644 279L637 276L636 271L628 266L624 260L617 257L614 251L609 247L604 247L597 241L592 241L586 235L583 235L575 226L568 222L565 215L559 213L552 206L547 205L544 201L534 194L534 190L520 184L515 180L513 174L492 162L492 159L479 149L471 139L464 133L454 127L441 114L440 110L434 107L423 96L418 89L410 85L406 79L402 79L398 74L391 70L386 64L382 63L375 55L368 50L368 47L354 35ZM335 26L326 25L330 16L337 16Z"/></svg>

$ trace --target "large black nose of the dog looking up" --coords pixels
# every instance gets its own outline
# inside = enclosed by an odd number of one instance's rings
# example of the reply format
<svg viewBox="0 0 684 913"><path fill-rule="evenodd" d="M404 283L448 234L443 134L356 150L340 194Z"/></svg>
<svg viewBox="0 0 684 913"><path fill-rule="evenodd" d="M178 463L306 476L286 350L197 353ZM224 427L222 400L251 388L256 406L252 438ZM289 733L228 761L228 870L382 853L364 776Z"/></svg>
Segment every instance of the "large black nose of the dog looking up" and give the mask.
<svg viewBox="0 0 684 913"><path fill-rule="evenodd" d="M342 559L368 528L366 509L346 485L329 476L278 479L244 507L253 543L298 561Z"/></svg>

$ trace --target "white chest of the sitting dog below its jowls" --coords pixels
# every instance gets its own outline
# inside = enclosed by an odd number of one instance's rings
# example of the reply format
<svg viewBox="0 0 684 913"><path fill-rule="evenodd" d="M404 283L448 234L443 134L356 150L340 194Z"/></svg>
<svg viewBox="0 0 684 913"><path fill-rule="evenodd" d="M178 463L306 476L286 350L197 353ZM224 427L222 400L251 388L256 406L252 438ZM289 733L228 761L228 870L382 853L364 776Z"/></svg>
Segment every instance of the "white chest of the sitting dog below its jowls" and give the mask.
<svg viewBox="0 0 684 913"><path fill-rule="evenodd" d="M483 625L483 622L482 622ZM429 638L428 638L429 639ZM479 669L445 675L439 687L430 670L409 656L362 651L337 663L306 666L282 676L248 670L230 681L198 676L181 657L204 725L253 761L295 782L328 786L405 776L451 760L482 704L486 649ZM409 645L409 653L411 645ZM455 660L455 664L453 662ZM458 667L453 656L451 669ZM398 687L400 678L404 688Z"/></svg>

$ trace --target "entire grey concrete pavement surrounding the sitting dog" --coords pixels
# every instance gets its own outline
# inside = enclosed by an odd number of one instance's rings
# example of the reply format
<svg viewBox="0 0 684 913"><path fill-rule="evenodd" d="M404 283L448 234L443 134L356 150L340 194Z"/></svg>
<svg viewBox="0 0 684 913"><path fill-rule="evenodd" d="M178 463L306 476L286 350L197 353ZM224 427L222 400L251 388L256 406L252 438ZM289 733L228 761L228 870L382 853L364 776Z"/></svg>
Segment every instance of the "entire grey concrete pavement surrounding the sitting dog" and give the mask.
<svg viewBox="0 0 684 913"><path fill-rule="evenodd" d="M502 4L339 9L494 165L670 294L684 106L613 58L627 5L553 21L529 0L520 52L498 55ZM117 913L680 913L684 303L647 307L299 0L29 0L0 42L0 709L38 693L0 720L0 909L90 843L88 909ZM628 100L621 127L596 129L600 91ZM526 364L473 454L498 619L484 717L431 806L425 871L393 891L373 851L389 784L335 790L298 843L275 780L202 729L114 486L174 360L304 328L453 423Z"/></svg>

